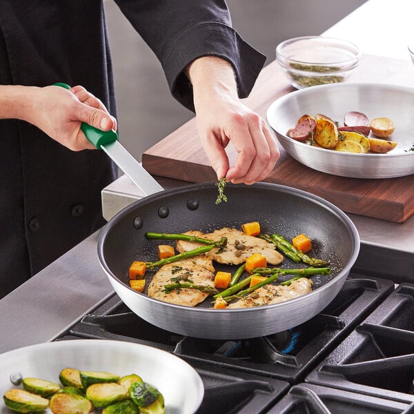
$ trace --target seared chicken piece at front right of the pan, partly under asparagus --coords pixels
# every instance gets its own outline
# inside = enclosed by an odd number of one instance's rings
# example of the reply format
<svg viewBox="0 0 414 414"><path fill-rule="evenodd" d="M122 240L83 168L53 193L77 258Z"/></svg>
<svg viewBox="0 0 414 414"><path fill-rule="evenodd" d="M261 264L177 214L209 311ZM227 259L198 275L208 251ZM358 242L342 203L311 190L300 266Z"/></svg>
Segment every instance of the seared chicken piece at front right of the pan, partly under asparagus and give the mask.
<svg viewBox="0 0 414 414"><path fill-rule="evenodd" d="M312 291L312 285L311 279L306 277L294 280L289 286L267 284L240 298L237 302L229 304L227 308L253 308L255 306L277 304L306 295L306 293Z"/></svg>

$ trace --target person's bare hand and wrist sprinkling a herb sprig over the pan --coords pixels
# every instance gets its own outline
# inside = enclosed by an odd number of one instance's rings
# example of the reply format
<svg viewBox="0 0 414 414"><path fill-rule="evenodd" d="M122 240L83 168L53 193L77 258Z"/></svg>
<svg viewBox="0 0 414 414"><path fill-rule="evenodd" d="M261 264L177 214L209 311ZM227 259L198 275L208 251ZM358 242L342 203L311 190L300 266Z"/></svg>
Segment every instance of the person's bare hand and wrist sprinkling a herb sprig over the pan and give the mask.
<svg viewBox="0 0 414 414"><path fill-rule="evenodd" d="M217 179L254 184L273 170L279 149L266 122L237 97L233 68L216 57L197 59L188 68L193 83L197 128ZM198 67L197 67L198 65ZM224 148L237 151L230 166Z"/></svg>

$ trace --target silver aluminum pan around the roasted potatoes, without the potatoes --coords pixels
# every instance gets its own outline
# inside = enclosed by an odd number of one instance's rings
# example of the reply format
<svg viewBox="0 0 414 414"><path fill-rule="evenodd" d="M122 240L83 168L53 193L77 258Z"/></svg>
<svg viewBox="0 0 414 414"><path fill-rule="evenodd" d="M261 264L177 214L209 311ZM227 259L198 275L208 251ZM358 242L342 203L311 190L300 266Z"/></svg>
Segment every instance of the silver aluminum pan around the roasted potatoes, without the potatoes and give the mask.
<svg viewBox="0 0 414 414"><path fill-rule="evenodd" d="M322 113L343 125L349 111L369 119L388 117L395 124L388 154L352 154L317 148L286 136L304 114ZM291 92L273 102L267 120L283 148L314 170L342 177L382 179L414 174L414 88L379 83L333 83Z"/></svg>

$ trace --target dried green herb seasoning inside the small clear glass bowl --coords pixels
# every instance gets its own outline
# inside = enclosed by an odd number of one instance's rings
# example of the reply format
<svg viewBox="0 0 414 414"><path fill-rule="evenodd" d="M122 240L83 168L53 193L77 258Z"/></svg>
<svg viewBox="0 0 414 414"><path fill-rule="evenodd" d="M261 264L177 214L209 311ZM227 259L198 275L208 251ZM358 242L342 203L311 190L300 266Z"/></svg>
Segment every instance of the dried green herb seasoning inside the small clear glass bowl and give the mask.
<svg viewBox="0 0 414 414"><path fill-rule="evenodd" d="M290 68L302 72L319 73L320 76L314 75L297 75L297 73L288 70L289 75L297 85L306 88L308 86L324 85L325 83L339 83L344 81L343 76L339 75L324 75L326 73L339 72L342 70L339 66L320 66L320 65L304 65L302 63L290 63Z"/></svg>

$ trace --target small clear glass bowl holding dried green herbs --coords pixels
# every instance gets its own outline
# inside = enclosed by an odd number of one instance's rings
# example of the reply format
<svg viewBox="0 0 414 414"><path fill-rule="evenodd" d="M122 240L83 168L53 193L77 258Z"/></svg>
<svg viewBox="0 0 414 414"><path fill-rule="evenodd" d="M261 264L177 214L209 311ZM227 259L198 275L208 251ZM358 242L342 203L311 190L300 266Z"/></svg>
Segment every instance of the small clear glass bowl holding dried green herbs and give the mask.
<svg viewBox="0 0 414 414"><path fill-rule="evenodd" d="M276 61L297 89L344 81L360 57L353 43L332 37L295 37L276 48Z"/></svg>

